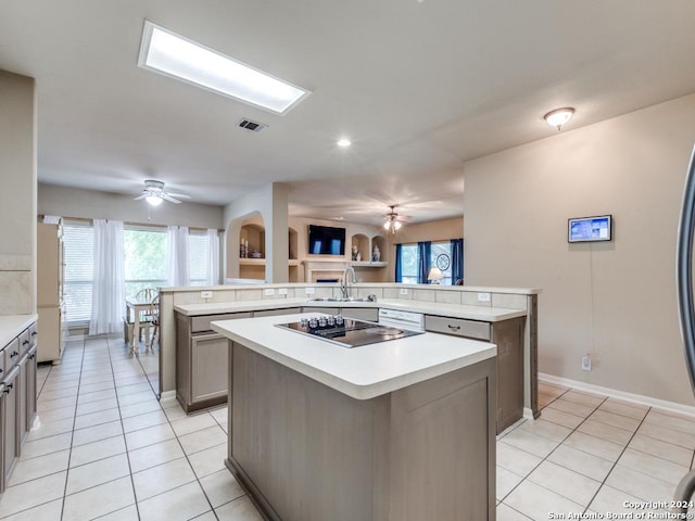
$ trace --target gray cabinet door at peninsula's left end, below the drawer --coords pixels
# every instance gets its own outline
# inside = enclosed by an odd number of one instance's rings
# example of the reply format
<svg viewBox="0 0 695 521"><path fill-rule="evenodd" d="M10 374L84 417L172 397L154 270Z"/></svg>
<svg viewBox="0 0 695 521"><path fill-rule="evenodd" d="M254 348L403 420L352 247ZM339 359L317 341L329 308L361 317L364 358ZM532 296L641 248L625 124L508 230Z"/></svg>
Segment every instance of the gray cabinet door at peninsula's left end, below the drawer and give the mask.
<svg viewBox="0 0 695 521"><path fill-rule="evenodd" d="M227 396L227 339L222 334L191 336L191 402Z"/></svg>

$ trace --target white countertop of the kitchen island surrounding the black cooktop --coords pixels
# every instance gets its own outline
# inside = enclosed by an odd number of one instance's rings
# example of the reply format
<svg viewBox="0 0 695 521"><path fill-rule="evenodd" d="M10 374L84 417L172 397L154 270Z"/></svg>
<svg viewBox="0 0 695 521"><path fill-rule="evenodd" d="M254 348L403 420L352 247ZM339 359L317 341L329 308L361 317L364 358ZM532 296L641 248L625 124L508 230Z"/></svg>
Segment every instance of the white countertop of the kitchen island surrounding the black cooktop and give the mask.
<svg viewBox="0 0 695 521"><path fill-rule="evenodd" d="M424 333L346 348L275 327L305 315L243 318L212 322L213 330L313 380L357 399L399 389L492 358L488 342Z"/></svg>

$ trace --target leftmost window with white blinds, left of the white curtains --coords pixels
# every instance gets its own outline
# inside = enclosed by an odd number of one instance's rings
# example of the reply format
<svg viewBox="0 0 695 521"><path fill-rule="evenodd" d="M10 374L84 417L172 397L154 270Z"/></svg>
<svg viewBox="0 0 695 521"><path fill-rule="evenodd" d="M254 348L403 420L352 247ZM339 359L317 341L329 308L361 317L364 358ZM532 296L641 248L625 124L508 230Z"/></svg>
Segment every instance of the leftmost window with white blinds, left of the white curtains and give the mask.
<svg viewBox="0 0 695 521"><path fill-rule="evenodd" d="M88 322L91 318L91 287L94 277L94 231L91 224L63 224L63 302L65 320Z"/></svg>

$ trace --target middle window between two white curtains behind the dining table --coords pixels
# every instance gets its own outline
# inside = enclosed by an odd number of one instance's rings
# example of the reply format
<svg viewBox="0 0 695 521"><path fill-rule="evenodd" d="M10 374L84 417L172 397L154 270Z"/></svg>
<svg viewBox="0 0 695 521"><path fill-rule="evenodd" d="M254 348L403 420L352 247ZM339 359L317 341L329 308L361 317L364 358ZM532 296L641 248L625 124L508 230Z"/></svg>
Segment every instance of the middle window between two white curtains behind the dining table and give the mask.
<svg viewBox="0 0 695 521"><path fill-rule="evenodd" d="M167 285L166 229L127 226L123 230L126 295Z"/></svg>

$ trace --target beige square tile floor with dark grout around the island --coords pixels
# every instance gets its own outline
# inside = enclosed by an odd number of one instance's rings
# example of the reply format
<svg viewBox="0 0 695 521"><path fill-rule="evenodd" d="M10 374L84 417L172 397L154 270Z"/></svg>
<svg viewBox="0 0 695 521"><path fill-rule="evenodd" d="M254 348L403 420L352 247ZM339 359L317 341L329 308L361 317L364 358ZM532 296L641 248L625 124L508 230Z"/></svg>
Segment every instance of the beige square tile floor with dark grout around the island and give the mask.
<svg viewBox="0 0 695 521"><path fill-rule="evenodd" d="M39 421L0 519L261 519L224 466L227 409L187 417L159 402L156 356L89 339L39 367ZM497 440L500 521L634 513L624 501L670 499L693 466L693 417L545 382L540 399L539 420Z"/></svg>

